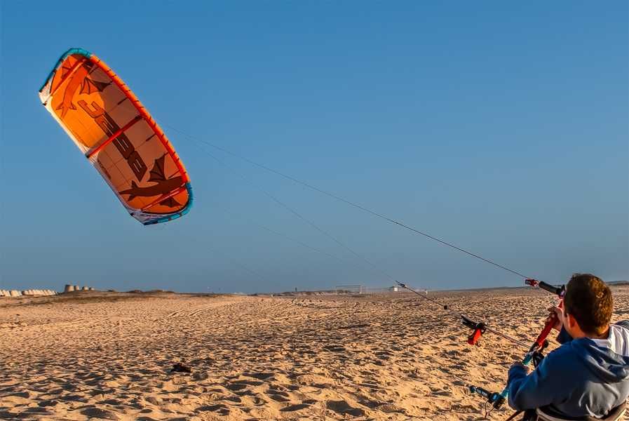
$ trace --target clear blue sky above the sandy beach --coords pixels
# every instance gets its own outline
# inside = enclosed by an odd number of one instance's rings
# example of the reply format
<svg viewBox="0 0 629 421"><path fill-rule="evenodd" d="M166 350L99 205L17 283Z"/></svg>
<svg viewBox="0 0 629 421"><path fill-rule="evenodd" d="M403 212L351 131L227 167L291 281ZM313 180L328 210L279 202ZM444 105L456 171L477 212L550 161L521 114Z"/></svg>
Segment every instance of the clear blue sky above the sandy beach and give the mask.
<svg viewBox="0 0 629 421"><path fill-rule="evenodd" d="M521 283L199 140L528 276L629 279L628 8L2 1L0 288L391 284L204 149L400 281ZM130 218L41 107L69 47L107 62L163 125L191 175L189 215Z"/></svg>

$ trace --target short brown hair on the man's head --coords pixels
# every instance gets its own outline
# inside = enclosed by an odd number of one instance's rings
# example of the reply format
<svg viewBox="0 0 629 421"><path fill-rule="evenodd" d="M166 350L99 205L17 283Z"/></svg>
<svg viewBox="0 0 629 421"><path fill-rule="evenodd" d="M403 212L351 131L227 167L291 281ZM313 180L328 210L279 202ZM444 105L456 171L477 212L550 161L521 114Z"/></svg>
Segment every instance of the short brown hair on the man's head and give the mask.
<svg viewBox="0 0 629 421"><path fill-rule="evenodd" d="M584 333L600 335L611 321L614 300L606 283L593 274L574 274L566 286L564 307Z"/></svg>

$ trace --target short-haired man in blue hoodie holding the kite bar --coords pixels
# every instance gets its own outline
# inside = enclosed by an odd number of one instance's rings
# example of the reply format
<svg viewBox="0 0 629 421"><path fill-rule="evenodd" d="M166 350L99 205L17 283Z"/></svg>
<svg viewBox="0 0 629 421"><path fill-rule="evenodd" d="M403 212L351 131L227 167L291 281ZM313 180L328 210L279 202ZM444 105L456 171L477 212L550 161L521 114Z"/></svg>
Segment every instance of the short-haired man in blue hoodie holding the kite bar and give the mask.
<svg viewBox="0 0 629 421"><path fill-rule="evenodd" d="M521 363L509 370L509 405L542 408L555 417L606 417L629 396L629 321L610 325L609 286L591 274L574 274L555 329L561 347L530 374Z"/></svg>

